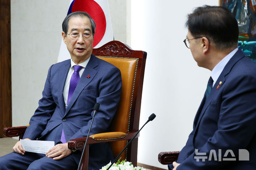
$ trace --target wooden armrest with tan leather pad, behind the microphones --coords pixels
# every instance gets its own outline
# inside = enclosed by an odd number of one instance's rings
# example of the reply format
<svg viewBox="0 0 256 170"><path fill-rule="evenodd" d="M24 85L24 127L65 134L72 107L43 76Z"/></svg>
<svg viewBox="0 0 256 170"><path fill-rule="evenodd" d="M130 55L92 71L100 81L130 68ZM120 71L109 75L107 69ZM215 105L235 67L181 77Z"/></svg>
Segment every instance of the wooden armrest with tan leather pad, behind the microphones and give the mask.
<svg viewBox="0 0 256 170"><path fill-rule="evenodd" d="M129 140L132 139L133 136L138 131L128 132L127 134L124 132L106 132L89 136L87 140L87 145L94 143L102 143L102 142L113 142L113 141L121 141L121 140ZM139 134L135 137L138 138ZM84 147L85 141L87 137L81 137L76 139L71 139L68 141L68 148L71 150L79 150Z"/></svg>

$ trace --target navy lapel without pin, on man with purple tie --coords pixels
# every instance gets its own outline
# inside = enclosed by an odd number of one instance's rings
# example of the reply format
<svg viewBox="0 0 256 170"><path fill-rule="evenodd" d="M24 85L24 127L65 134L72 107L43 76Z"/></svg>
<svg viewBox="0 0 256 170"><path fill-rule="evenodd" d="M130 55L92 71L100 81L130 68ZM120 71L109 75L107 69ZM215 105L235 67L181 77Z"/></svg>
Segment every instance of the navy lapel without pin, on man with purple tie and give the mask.
<svg viewBox="0 0 256 170"><path fill-rule="evenodd" d="M66 82L66 77L68 75L69 67L70 67L70 60L68 60L64 64L64 66L58 70L58 81L56 81L56 83L59 82L59 87L60 87L58 91L58 102L59 102L61 113L65 113L65 110L66 110L64 97L63 97L63 90Z"/></svg>

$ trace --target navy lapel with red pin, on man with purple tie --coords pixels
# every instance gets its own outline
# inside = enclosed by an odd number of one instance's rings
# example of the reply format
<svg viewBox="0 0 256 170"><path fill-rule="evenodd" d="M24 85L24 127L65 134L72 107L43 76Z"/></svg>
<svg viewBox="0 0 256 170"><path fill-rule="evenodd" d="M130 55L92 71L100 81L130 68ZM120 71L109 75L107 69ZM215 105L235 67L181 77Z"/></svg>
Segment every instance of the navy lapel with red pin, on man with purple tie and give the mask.
<svg viewBox="0 0 256 170"><path fill-rule="evenodd" d="M66 107L65 115L69 112L70 108L75 103L76 99L80 95L81 91L91 82L91 80L95 77L97 74L97 71L94 69L96 66L98 66L98 62L96 60L96 57L92 54L89 62L87 63L84 72L81 75L81 78L78 82L78 85L75 88L75 91L69 101L68 106ZM90 78L87 78L87 75L90 75ZM64 115L64 117L65 117Z"/></svg>

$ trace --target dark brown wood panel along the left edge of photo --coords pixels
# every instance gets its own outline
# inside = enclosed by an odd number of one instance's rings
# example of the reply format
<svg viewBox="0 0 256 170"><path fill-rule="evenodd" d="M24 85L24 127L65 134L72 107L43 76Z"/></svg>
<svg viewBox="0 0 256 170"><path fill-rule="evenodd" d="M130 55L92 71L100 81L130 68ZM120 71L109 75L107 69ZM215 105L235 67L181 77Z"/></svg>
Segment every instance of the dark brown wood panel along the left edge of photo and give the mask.
<svg viewBox="0 0 256 170"><path fill-rule="evenodd" d="M0 137L2 129L12 125L10 6L10 0L0 0Z"/></svg>

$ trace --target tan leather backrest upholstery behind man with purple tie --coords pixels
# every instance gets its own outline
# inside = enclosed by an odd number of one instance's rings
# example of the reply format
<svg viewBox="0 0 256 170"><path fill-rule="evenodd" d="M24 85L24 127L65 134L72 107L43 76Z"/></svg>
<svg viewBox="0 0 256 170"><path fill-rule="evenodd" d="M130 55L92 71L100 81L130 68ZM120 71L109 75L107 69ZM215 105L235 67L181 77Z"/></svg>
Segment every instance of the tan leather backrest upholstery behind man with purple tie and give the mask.
<svg viewBox="0 0 256 170"><path fill-rule="evenodd" d="M97 56L98 58L105 60L117 68L120 69L122 75L122 94L121 102L117 109L117 113L111 123L111 131L127 132L130 118L130 107L131 100L133 97L134 79L137 69L138 59L128 57L108 57L108 56ZM132 74L131 74L132 73ZM126 146L126 141L110 142L110 147L114 157L123 150ZM126 152L121 155L122 159L126 159Z"/></svg>

